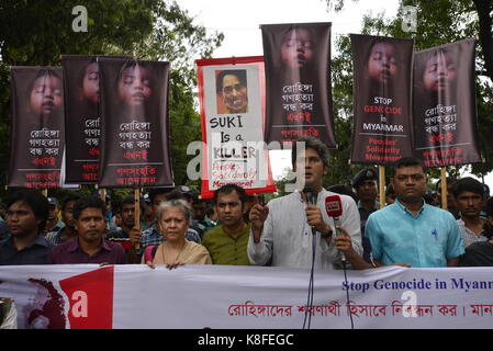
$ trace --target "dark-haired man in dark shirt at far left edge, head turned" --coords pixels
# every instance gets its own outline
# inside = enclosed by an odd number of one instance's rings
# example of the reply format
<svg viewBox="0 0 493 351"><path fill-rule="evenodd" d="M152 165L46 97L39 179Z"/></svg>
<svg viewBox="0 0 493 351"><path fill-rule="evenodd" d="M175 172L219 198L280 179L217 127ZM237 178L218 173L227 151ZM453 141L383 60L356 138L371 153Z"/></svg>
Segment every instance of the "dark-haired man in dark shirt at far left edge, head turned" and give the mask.
<svg viewBox="0 0 493 351"><path fill-rule="evenodd" d="M43 236L48 201L35 190L20 190L7 200L10 237L0 242L0 264L43 264L53 244Z"/></svg>

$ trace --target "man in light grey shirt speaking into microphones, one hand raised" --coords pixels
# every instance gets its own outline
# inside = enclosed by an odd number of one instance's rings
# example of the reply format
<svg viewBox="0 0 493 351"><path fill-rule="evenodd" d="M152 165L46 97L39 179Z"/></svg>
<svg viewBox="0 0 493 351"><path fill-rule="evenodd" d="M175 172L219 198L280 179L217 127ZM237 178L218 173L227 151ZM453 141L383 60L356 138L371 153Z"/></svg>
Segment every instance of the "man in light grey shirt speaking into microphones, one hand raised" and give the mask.
<svg viewBox="0 0 493 351"><path fill-rule="evenodd" d="M296 147L303 145L304 148ZM267 205L255 204L251 207L248 241L250 263L265 265L270 262L277 267L311 268L312 240L316 240L315 269L334 269L334 263L341 260L340 252L344 252L352 268L371 268L360 256L360 219L355 201L340 195L340 236L336 235L334 218L329 217L325 208L325 199L337 195L322 186L322 178L328 171L327 147L317 138L303 137L293 144L291 160L296 179L304 180L296 184L303 185Z"/></svg>

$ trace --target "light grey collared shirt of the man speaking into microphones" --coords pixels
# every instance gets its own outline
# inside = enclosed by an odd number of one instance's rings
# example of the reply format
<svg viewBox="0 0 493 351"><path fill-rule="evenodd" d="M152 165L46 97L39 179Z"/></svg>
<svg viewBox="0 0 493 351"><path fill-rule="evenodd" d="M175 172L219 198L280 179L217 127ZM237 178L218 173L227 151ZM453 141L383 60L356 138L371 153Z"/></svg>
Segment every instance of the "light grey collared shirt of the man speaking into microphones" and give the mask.
<svg viewBox="0 0 493 351"><path fill-rule="evenodd" d="M334 218L328 217L325 210L325 199L339 195L323 189L317 196L316 205L321 210L322 218L330 226L335 234ZM359 212L352 197L339 195L343 203L343 216L338 225L345 228L351 237L352 248L361 254L361 233ZM271 265L311 268L313 256L313 240L315 242L315 269L334 269L334 263L340 262L340 254L335 240L329 245L320 233L312 234L307 224L306 203L296 191L289 195L273 199L267 204L269 214L264 223L260 241L255 244L250 230L248 240L248 258L251 264L265 265L271 260Z"/></svg>

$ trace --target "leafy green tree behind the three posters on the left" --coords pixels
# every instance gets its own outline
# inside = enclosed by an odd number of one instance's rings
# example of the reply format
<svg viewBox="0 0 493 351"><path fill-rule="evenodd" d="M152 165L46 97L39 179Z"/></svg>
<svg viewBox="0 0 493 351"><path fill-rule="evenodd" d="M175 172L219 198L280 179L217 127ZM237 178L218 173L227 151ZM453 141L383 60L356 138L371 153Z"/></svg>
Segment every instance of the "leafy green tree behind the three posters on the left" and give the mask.
<svg viewBox="0 0 493 351"><path fill-rule="evenodd" d="M88 12L88 31L74 32L76 4ZM200 139L194 112L193 59L209 58L221 33L206 33L187 11L165 0L3 0L0 3L0 162L9 162L9 66L59 66L60 55L134 55L171 63L169 116L177 183L186 181L184 150ZM5 171L0 174L4 182Z"/></svg>

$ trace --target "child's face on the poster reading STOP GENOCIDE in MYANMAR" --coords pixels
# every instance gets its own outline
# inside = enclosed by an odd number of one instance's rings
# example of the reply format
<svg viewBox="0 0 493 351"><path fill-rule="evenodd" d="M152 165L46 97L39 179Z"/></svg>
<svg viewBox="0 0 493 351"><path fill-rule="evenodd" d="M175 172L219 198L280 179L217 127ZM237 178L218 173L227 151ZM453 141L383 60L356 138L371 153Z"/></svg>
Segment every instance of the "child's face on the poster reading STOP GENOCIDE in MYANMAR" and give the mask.
<svg viewBox="0 0 493 351"><path fill-rule="evenodd" d="M397 72L395 48L392 44L377 43L371 48L368 59L368 75L377 82L392 80Z"/></svg>

